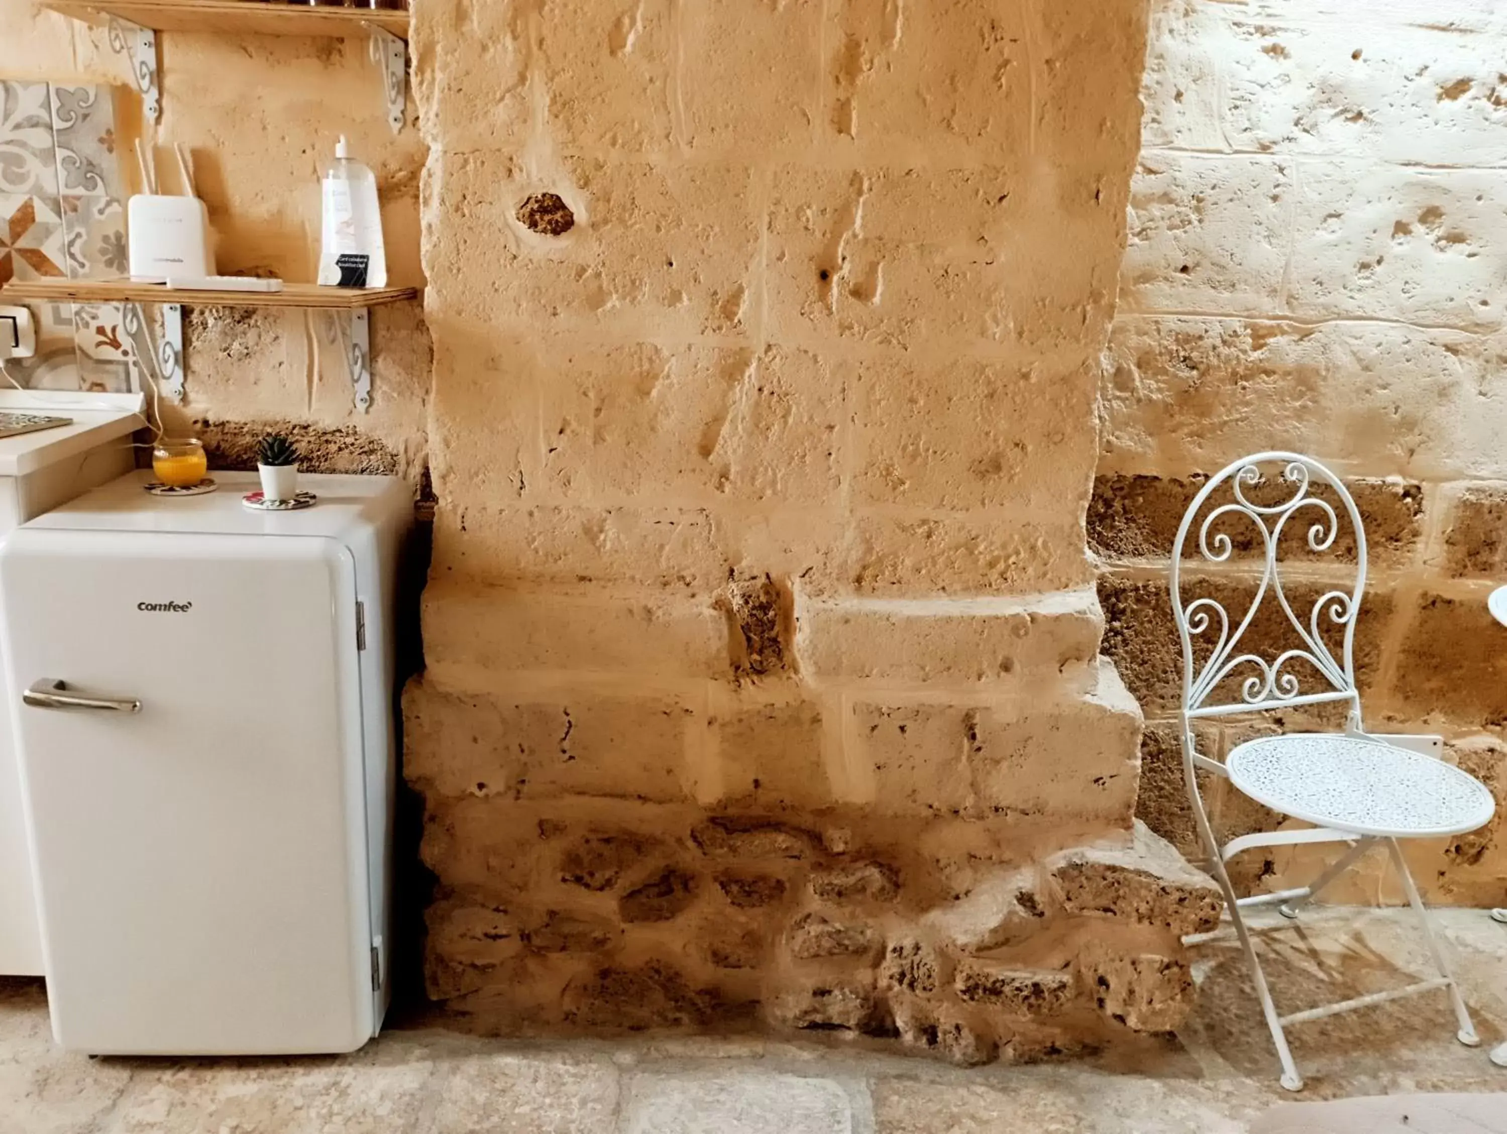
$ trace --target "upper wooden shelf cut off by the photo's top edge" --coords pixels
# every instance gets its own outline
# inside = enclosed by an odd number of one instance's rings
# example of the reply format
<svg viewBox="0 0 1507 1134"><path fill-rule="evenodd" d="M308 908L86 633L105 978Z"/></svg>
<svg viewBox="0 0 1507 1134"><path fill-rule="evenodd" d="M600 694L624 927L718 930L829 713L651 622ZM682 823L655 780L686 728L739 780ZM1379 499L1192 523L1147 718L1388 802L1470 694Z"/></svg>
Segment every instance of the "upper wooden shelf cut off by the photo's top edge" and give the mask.
<svg viewBox="0 0 1507 1134"><path fill-rule="evenodd" d="M42 0L44 8L96 23L102 15L154 32L231 32L268 36L360 36L380 27L408 38L408 12L384 8L289 5L282 0Z"/></svg>

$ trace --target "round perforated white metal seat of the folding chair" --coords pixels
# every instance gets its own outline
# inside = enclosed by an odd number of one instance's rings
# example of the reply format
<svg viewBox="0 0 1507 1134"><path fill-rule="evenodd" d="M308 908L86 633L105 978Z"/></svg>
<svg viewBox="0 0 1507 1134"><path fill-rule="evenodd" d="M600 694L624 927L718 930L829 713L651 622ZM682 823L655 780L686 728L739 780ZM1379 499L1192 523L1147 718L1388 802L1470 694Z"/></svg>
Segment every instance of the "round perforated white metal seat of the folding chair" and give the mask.
<svg viewBox="0 0 1507 1134"><path fill-rule="evenodd" d="M1257 803L1355 834L1463 834L1484 827L1496 810L1486 785L1453 765L1341 733L1261 736L1234 748L1225 768Z"/></svg>

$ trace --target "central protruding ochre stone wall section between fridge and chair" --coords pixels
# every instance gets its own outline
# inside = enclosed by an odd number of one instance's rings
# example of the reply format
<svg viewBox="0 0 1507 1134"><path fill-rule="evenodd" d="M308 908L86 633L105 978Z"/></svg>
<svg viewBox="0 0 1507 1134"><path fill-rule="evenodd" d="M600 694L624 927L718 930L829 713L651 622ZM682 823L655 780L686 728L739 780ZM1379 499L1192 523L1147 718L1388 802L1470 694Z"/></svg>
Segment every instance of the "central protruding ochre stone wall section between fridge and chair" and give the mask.
<svg viewBox="0 0 1507 1134"><path fill-rule="evenodd" d="M963 1062L1175 1024L1218 901L1132 827L1084 536L1144 3L414 20L431 992Z"/></svg>

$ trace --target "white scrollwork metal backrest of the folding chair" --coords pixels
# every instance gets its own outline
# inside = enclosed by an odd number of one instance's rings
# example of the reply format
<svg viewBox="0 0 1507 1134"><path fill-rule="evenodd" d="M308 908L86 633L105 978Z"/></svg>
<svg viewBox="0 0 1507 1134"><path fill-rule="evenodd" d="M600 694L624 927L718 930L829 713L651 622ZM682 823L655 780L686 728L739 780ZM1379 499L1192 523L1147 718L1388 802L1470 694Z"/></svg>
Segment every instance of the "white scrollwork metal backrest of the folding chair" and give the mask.
<svg viewBox="0 0 1507 1134"><path fill-rule="evenodd" d="M1346 527L1353 542L1338 538ZM1185 563L1189 536L1197 542ZM1263 563L1254 598L1234 620L1246 602L1242 587L1249 586L1249 575L1224 569L1239 562L1237 551L1260 554ZM1186 575L1186 568L1201 566L1200 559L1212 566ZM1299 563L1285 581L1284 559ZM1353 645L1364 587L1361 514L1334 473L1308 456L1279 452L1252 453L1222 468L1188 506L1172 547L1183 715L1350 700L1352 718L1359 720ZM1185 602L1185 589L1198 596Z"/></svg>

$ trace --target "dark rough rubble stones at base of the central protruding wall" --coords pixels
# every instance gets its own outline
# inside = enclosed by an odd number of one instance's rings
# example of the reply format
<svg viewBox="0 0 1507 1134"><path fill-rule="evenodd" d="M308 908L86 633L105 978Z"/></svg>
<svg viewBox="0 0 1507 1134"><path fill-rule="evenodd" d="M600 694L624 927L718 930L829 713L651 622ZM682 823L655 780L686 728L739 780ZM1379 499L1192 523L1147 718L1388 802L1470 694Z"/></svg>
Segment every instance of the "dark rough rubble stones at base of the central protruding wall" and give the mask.
<svg viewBox="0 0 1507 1134"><path fill-rule="evenodd" d="M1221 911L1213 883L1144 825L1017 867L1011 884L1032 911L1022 934L1013 907L989 899L998 872L952 901L977 863L939 861L882 828L854 840L856 812L805 828L639 806L612 809L634 825L610 828L543 810L484 833L466 807L429 840L431 861L458 881L429 911L431 991L509 1032L767 1024L898 1039L964 1063L1029 1060L1174 1027L1192 997L1178 935ZM943 824L924 839L948 834ZM511 879L517 898L451 869L478 837L493 863L535 863ZM621 875L582 873L612 840L642 854ZM993 922L984 934L972 931L980 919Z"/></svg>

